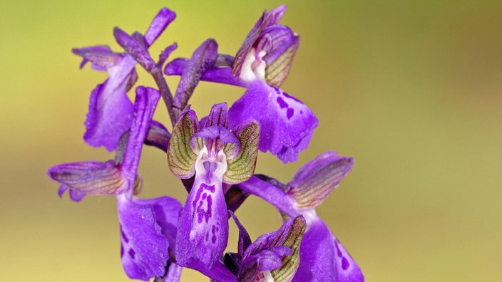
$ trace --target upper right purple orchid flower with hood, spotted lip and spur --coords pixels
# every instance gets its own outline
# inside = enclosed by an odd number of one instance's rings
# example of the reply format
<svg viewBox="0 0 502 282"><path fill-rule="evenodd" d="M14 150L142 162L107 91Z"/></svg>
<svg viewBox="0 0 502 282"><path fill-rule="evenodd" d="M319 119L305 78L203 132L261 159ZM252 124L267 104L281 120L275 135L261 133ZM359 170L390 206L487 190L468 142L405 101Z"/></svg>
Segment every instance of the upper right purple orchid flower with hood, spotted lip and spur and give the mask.
<svg viewBox="0 0 502 282"><path fill-rule="evenodd" d="M265 11L235 60L218 56L215 67L200 79L247 88L229 110L230 126L257 120L261 125L258 148L277 155L282 162L293 162L307 148L318 121L306 105L279 88L299 46L299 36L279 24L285 10L286 6L279 6ZM188 62L183 58L171 61L165 74L181 75Z"/></svg>

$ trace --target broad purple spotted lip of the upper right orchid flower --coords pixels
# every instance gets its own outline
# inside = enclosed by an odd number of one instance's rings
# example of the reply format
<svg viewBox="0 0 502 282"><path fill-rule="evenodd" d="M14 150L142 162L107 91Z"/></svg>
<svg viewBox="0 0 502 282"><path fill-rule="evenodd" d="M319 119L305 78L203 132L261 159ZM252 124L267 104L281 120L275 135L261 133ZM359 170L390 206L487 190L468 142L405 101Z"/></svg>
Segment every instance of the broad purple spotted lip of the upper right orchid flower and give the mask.
<svg viewBox="0 0 502 282"><path fill-rule="evenodd" d="M247 120L260 122L258 148L277 155L282 162L297 160L298 152L307 149L318 123L300 100L262 81L251 83L228 114L231 128Z"/></svg>

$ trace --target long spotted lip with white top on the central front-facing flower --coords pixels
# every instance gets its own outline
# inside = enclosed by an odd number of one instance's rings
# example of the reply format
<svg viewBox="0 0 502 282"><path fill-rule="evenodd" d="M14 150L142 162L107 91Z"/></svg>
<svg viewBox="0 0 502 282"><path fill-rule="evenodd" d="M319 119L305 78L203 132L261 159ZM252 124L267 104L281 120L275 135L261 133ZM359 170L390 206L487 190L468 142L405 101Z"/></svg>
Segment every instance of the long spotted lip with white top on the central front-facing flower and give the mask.
<svg viewBox="0 0 502 282"><path fill-rule="evenodd" d="M225 155L221 162L205 161L208 150L200 152L195 163L195 182L178 221L176 260L180 266L204 273L225 251L228 239L228 213L222 190L226 170Z"/></svg>

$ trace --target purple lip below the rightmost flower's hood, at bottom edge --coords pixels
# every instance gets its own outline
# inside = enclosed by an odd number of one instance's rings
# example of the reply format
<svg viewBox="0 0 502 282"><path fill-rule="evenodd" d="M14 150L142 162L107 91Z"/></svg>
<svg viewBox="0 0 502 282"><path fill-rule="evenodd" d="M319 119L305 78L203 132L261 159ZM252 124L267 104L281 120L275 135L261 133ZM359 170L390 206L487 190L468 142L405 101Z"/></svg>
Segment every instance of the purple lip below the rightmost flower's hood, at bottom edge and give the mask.
<svg viewBox="0 0 502 282"><path fill-rule="evenodd" d="M294 282L362 282L364 276L352 256L317 216L305 232L299 249L300 263Z"/></svg>

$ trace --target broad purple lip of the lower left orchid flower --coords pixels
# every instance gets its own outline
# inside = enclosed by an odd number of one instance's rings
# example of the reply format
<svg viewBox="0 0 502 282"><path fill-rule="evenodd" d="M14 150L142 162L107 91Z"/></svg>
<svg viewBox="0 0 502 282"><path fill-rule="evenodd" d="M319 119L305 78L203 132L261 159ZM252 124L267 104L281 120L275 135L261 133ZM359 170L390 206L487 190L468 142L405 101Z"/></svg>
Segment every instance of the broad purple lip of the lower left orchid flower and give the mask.
<svg viewBox="0 0 502 282"><path fill-rule="evenodd" d="M117 205L124 271L143 281L164 276L170 245L166 234L173 234L181 204L169 197L130 200L121 195Z"/></svg>

